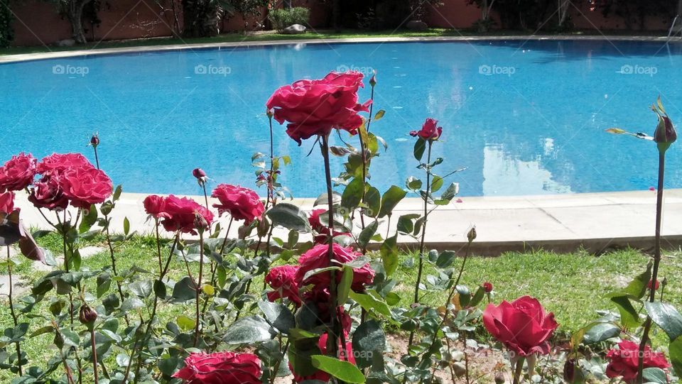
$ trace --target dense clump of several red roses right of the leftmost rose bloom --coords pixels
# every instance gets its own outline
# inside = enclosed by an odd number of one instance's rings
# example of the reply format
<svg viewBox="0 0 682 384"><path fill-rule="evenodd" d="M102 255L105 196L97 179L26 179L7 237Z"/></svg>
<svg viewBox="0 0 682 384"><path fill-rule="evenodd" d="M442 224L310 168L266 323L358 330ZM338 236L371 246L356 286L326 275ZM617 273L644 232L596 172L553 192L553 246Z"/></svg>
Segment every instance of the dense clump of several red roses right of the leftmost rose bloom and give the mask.
<svg viewBox="0 0 682 384"><path fill-rule="evenodd" d="M114 192L109 176L80 153L49 155L36 165L36 170L42 177L33 182L28 200L38 208L65 209L71 204L90 209Z"/></svg>

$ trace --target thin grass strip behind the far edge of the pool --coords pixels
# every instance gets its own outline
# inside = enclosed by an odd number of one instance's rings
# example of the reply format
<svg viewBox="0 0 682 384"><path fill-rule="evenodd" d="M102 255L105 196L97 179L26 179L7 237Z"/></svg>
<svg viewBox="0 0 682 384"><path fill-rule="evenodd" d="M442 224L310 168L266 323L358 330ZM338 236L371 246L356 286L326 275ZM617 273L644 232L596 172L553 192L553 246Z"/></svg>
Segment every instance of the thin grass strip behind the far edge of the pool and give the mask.
<svg viewBox="0 0 682 384"><path fill-rule="evenodd" d="M472 36L472 35L530 35L533 31L508 31L494 30L488 33L478 33L469 29L445 29L431 28L427 31L360 31L360 30L340 30L325 31L318 30L305 33L303 35L282 35L279 33L225 33L212 38L151 38L137 40L112 40L102 42L86 43L73 47L58 47L38 45L33 47L11 47L0 49L0 56L19 55L25 53L45 53L60 52L69 50L90 50L103 48L125 48L139 47L146 45L185 45L197 43L241 43L249 41L277 41L277 40L307 40L307 39L338 39L338 38L381 38L381 37L437 37L437 36ZM608 35L631 35L629 31L606 31ZM556 33L534 33L536 35L556 35ZM571 33L561 33L561 35L601 35L601 31L574 31ZM660 35L655 32L637 32L637 35Z"/></svg>

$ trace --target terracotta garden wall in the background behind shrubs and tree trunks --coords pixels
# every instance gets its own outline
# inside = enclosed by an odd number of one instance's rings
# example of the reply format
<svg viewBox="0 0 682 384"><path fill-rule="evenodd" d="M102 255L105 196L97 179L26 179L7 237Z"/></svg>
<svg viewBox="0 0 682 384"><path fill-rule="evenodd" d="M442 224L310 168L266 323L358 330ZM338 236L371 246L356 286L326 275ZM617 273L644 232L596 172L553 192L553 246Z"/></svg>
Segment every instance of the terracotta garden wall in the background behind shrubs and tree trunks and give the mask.
<svg viewBox="0 0 682 384"><path fill-rule="evenodd" d="M161 6L154 0L103 0L99 18L102 23L88 29L87 37L93 40L117 40L128 38L152 38L172 35L173 12L171 1L175 1L178 18L182 23L180 0L160 0ZM444 5L431 9L426 18L429 26L439 28L470 28L480 17L477 6L467 5L467 0L443 0ZM313 28L324 28L328 25L330 7L321 0L293 0L295 6L310 8L310 25ZM17 20L15 45L50 45L59 40L71 37L69 23L61 18L52 3L41 0L16 1L13 11ZM266 15L266 10L263 10ZM593 29L625 29L625 23L617 16L604 18L599 11L590 11L587 6L570 11L576 28ZM497 15L492 15L497 18ZM262 28L265 16L234 16L224 21L222 31L244 31ZM645 29L666 31L669 20L650 18L646 20Z"/></svg>

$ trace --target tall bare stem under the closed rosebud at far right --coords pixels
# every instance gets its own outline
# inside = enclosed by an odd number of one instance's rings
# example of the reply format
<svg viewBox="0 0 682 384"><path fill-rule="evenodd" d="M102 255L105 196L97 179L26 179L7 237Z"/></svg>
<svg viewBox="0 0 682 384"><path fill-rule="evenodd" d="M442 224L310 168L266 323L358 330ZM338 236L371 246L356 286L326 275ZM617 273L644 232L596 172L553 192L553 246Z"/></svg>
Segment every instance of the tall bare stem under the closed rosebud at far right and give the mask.
<svg viewBox="0 0 682 384"><path fill-rule="evenodd" d="M651 290L649 290L649 302L656 300L656 279L659 275L659 265L661 263L661 217L663 216L663 190L664 176L666 170L666 152L659 150L659 185L656 190L656 237L654 238L654 269L651 270ZM639 358L637 361L637 383L642 384L644 371L644 347L649 341L649 330L651 330L651 317L646 317L644 322L644 334L642 341L639 342Z"/></svg>

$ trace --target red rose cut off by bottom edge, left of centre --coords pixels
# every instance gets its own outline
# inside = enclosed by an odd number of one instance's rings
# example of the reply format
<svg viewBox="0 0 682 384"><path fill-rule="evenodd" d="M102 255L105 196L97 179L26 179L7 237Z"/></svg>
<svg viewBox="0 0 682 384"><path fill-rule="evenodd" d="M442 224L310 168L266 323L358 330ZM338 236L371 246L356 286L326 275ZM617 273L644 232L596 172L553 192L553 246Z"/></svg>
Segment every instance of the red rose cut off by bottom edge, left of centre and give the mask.
<svg viewBox="0 0 682 384"><path fill-rule="evenodd" d="M187 384L261 384L261 361L252 353L190 353L173 373Z"/></svg>

